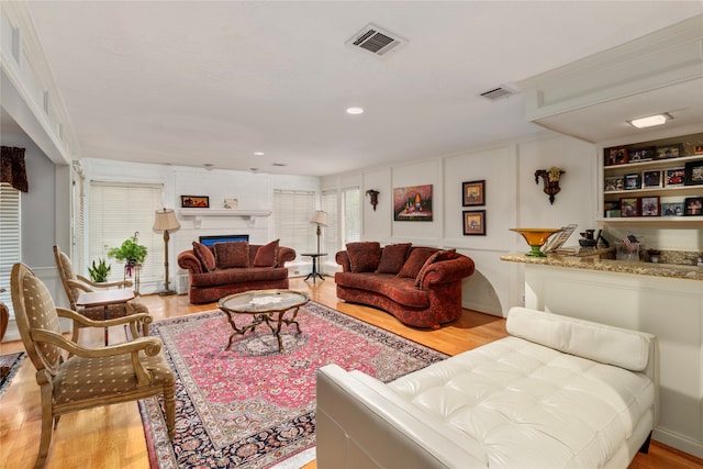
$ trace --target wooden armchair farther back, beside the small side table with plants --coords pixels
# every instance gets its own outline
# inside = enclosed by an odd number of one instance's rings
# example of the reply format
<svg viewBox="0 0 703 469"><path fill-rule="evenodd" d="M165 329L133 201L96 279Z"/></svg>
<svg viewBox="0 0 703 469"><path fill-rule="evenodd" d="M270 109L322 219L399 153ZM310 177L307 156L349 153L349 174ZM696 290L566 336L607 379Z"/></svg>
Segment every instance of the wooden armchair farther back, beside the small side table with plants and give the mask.
<svg viewBox="0 0 703 469"><path fill-rule="evenodd" d="M70 303L70 309L82 314L89 320L93 321L104 321L105 313L103 306L78 306L76 301L78 301L78 297L82 291L96 291L96 289L108 289L108 288L129 288L132 287L132 282L129 280L125 281L116 281L116 282L104 282L104 283L96 283L93 281L88 280L86 277L80 275L76 275L74 271L74 265L68 258L66 254L62 252L58 246L54 246L54 259L56 261L56 268L58 269L58 275L62 278L62 283L64 284L64 291L66 292L66 297L68 298L68 302ZM148 309L136 300L127 301L126 303L120 304L111 304L108 306L108 317L109 320L115 317L124 317L131 314L136 313L146 313L148 315ZM134 337L138 335L147 336L148 335L148 325L153 322L152 316L147 316L144 319L142 323L142 331L136 331L136 323L130 323L132 326L132 334ZM80 327L80 326L79 326ZM74 327L74 342L78 342L78 327Z"/></svg>

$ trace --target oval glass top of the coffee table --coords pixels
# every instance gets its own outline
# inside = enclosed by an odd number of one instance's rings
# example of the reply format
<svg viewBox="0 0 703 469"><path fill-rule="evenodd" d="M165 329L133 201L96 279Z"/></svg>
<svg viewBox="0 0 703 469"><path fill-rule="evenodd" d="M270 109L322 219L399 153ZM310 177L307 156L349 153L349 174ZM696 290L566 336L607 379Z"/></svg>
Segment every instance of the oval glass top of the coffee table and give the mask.
<svg viewBox="0 0 703 469"><path fill-rule="evenodd" d="M217 306L233 313L257 314L290 310L308 301L310 297L300 291L252 290L225 297L217 302Z"/></svg>

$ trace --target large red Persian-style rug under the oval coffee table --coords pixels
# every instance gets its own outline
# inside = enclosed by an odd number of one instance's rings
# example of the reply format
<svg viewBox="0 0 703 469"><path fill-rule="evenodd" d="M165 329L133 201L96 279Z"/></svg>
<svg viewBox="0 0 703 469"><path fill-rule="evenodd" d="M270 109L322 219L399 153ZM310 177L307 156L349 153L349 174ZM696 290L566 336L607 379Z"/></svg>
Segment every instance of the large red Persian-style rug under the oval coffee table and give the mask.
<svg viewBox="0 0 703 469"><path fill-rule="evenodd" d="M447 358L312 301L298 322L301 334L281 331L283 353L265 325L224 350L232 328L220 311L152 324L177 380L172 443L161 399L140 401L152 468L301 467L315 456L317 368L335 362L388 382Z"/></svg>

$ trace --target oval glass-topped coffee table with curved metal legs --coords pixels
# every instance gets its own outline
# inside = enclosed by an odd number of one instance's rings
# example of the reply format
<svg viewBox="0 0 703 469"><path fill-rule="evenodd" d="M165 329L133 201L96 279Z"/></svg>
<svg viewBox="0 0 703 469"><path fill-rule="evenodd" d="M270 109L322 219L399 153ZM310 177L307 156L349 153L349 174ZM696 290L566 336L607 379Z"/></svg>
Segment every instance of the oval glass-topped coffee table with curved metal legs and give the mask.
<svg viewBox="0 0 703 469"><path fill-rule="evenodd" d="M286 325L295 324L298 334L300 334L300 324L295 321L295 316L300 306L309 301L308 294L293 290L252 290L223 298L217 302L217 308L224 311L234 330L230 335L230 343L225 350L232 347L235 335L244 335L247 331L254 331L259 324L266 323L278 339L278 351L283 351L281 325L283 323ZM289 311L292 311L292 315L286 317L286 313ZM250 324L239 328L234 322L237 314L249 314L254 319Z"/></svg>

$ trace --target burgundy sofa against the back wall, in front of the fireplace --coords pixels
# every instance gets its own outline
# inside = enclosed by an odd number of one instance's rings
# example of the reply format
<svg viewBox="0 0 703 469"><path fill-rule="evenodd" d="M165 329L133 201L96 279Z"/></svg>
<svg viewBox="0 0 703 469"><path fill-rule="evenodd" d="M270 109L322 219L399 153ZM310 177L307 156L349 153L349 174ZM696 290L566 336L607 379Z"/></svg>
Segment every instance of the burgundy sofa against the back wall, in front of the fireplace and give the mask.
<svg viewBox="0 0 703 469"><path fill-rule="evenodd" d="M178 255L178 266L188 269L190 302L210 303L247 290L287 289L286 263L294 258L295 250L279 246L278 239L266 245L193 242L192 249Z"/></svg>

